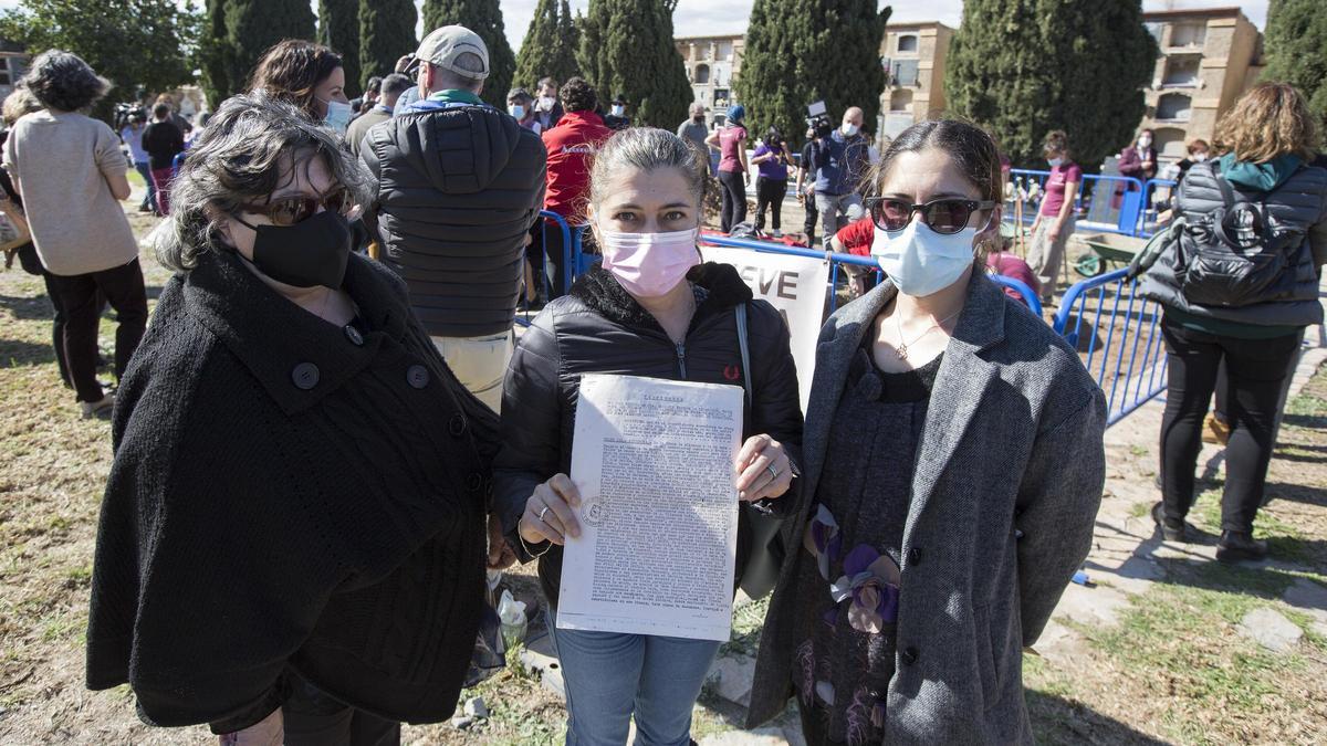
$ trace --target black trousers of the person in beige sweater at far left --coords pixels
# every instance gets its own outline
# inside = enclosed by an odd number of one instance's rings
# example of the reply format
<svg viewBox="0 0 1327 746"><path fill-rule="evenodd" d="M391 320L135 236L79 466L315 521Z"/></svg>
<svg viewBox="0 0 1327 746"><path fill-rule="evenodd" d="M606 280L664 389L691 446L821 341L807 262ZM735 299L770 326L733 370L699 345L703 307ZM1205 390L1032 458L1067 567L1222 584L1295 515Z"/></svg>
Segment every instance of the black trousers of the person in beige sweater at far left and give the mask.
<svg viewBox="0 0 1327 746"><path fill-rule="evenodd" d="M50 285L65 312L65 362L78 401L101 401L105 392L97 382L98 293L115 309L115 377L119 378L147 329L143 271L134 259L101 272L50 275Z"/></svg>

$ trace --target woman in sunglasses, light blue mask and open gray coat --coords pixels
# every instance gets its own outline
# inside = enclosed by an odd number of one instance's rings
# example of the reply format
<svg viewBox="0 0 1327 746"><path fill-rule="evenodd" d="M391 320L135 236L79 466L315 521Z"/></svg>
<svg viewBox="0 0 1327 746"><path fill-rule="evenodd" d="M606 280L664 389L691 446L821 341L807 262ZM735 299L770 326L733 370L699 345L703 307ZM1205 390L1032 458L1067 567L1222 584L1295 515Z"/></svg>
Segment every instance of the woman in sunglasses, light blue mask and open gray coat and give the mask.
<svg viewBox="0 0 1327 746"><path fill-rule="evenodd" d="M934 121L868 185L888 279L820 333L752 726L792 696L812 745L1032 741L1023 648L1091 547L1105 406L981 269L1002 183L990 135Z"/></svg>

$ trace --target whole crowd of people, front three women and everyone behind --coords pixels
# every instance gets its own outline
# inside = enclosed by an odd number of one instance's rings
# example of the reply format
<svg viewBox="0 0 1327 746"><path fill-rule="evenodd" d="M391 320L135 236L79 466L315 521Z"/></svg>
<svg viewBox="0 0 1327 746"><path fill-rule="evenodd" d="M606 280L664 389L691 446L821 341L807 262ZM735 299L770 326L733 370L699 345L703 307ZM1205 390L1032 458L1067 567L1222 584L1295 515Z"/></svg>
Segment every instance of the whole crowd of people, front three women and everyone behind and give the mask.
<svg viewBox="0 0 1327 746"><path fill-rule="evenodd" d="M989 275L1054 292L1083 183L1068 135L1044 139L1023 261L1002 230L1007 159L975 125L921 122L878 151L851 106L794 158L778 126L750 147L740 105L710 130L695 104L674 134L633 126L621 96L605 110L580 77L495 108L488 76L479 35L450 25L356 101L340 56L296 40L206 125L165 97L114 133L82 113L107 82L58 50L5 101L0 186L31 223L61 376L85 417L113 415L88 685L129 684L145 721L227 745L397 743L401 722L453 713L486 573L537 561L568 743L625 743L634 721L642 742L685 746L717 642L553 624L580 534L579 386L733 385L747 358L734 588L764 551L752 515L786 544L751 725L791 698L815 745L1031 742L1020 660L1091 548L1107 408L1076 350ZM1170 352L1153 518L1192 536L1223 365L1218 558L1259 559L1285 382L1323 316L1327 170L1290 86L1255 88L1218 129L1189 147L1177 238L1144 268ZM130 167L174 272L150 325ZM1157 167L1144 130L1121 173ZM698 248L707 182L734 231L752 169L758 231L768 210L782 232L792 181L808 243L819 227L882 277L855 273L857 300L824 324L804 413L780 313ZM1194 242L1237 202L1258 219L1231 240L1275 261L1202 264ZM600 263L569 267L543 210L587 226ZM523 299L544 305L518 340ZM114 393L97 378L107 304Z"/></svg>

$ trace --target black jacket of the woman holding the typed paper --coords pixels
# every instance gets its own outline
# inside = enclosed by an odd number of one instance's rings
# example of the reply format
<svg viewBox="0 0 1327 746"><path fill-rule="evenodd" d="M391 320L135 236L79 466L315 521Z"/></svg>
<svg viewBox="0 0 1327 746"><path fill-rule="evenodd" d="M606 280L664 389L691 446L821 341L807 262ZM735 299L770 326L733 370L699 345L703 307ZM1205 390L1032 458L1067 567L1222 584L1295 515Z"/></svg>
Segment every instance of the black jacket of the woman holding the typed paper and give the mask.
<svg viewBox="0 0 1327 746"><path fill-rule="evenodd" d="M580 377L621 373L674 381L743 385L742 352L734 309L747 304L747 344L754 404L743 438L762 433L782 442L796 463L802 445L798 372L788 348L788 328L772 305L751 300L751 291L727 264L702 264L687 279L703 300L682 345L674 345L612 275L592 269L568 296L548 304L520 340L503 393L502 450L494 462L494 510L514 547L516 523L535 487L572 463L572 433ZM794 490L768 500L774 511L795 503ZM744 511L743 511L744 516ZM750 546L750 527L738 526L740 575ZM563 554L553 547L539 560L539 577L549 601L557 603ZM740 577L738 579L740 581Z"/></svg>

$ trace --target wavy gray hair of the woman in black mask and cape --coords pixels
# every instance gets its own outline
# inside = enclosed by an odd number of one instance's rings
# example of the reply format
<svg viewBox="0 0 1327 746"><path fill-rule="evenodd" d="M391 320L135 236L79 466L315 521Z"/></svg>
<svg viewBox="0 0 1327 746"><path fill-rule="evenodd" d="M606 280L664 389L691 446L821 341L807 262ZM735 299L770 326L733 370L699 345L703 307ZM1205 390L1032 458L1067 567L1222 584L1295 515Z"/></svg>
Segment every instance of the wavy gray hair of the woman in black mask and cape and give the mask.
<svg viewBox="0 0 1327 746"><path fill-rule="evenodd" d="M242 204L261 202L322 158L356 204L377 188L368 169L328 129L300 109L263 94L222 104L188 150L170 190L171 215L153 231L157 259L188 272L207 251L220 251L219 223Z"/></svg>

